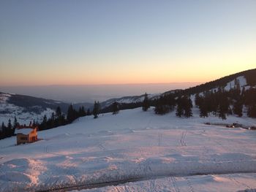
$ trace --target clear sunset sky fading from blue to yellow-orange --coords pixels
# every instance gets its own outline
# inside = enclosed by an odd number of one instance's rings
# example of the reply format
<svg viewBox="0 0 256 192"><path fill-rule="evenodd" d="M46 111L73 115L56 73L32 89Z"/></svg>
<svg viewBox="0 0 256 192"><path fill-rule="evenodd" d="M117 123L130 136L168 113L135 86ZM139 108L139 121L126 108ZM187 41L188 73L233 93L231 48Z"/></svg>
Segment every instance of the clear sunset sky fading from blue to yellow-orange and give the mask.
<svg viewBox="0 0 256 192"><path fill-rule="evenodd" d="M256 68L256 1L0 1L0 85L207 82Z"/></svg>

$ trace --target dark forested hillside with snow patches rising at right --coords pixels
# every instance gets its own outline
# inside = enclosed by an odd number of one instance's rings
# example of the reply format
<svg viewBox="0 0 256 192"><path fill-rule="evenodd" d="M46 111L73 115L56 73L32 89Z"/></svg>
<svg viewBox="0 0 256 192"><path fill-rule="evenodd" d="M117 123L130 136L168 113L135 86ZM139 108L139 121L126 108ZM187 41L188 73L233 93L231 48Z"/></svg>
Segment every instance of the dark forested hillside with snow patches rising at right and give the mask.
<svg viewBox="0 0 256 192"><path fill-rule="evenodd" d="M157 114L176 110L177 117L192 117L192 108L200 117L227 115L256 118L256 69L231 74L193 88L167 91L151 101Z"/></svg>

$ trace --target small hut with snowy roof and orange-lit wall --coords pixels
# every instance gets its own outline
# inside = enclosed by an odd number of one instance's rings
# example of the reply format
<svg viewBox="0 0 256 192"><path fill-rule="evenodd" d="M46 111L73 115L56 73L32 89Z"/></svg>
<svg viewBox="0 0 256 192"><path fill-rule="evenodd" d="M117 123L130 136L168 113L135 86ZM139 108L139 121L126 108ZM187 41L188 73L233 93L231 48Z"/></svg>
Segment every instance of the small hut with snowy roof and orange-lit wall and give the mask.
<svg viewBox="0 0 256 192"><path fill-rule="evenodd" d="M37 126L18 126L15 128L15 134L17 137L17 145L26 142L36 142Z"/></svg>

